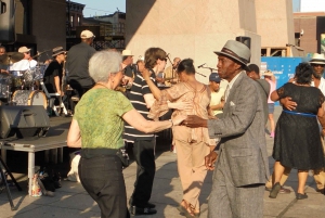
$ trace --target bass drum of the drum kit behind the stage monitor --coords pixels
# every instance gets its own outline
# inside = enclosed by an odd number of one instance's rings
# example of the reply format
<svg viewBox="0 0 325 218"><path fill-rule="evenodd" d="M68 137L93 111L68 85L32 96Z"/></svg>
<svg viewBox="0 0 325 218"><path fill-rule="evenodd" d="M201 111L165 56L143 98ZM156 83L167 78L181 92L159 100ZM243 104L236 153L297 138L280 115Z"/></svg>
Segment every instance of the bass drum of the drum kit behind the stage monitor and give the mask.
<svg viewBox="0 0 325 218"><path fill-rule="evenodd" d="M47 97L41 91L34 90L16 90L12 95L16 105L42 105L48 107Z"/></svg>

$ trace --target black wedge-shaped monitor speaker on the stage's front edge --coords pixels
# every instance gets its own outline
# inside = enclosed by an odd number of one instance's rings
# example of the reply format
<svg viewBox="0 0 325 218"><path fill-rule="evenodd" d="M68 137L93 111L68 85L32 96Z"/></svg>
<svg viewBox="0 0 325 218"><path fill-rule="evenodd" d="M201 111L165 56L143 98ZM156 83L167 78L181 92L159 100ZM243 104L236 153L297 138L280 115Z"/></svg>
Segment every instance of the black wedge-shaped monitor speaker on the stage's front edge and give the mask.
<svg viewBox="0 0 325 218"><path fill-rule="evenodd" d="M48 113L41 105L0 106L0 118L2 139L42 137L50 128Z"/></svg>

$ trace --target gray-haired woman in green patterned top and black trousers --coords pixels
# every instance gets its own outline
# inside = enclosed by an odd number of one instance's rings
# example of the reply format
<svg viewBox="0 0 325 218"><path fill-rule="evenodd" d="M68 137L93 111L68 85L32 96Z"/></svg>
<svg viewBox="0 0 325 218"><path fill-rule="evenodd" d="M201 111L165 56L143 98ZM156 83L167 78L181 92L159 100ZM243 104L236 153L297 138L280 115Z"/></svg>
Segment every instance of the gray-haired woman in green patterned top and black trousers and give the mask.
<svg viewBox="0 0 325 218"><path fill-rule="evenodd" d="M116 155L123 146L123 120L140 131L156 132L180 124L185 116L150 121L139 114L115 91L123 78L121 55L115 51L96 52L89 61L89 74L96 84L75 108L67 144L81 148L80 181L99 204L101 217L129 217L122 165Z"/></svg>

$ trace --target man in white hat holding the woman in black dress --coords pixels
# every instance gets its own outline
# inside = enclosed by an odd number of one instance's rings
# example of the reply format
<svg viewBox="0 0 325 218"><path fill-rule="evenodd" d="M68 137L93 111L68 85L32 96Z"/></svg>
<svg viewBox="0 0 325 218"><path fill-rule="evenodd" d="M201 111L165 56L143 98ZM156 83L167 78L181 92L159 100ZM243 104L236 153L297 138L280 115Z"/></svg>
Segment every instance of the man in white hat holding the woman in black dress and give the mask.
<svg viewBox="0 0 325 218"><path fill-rule="evenodd" d="M323 78L324 68L325 68L325 55L320 53L314 53L309 63L313 68L313 80L311 82L311 86L321 89L322 93L325 95L325 79ZM282 99L280 102L289 111L295 110L297 107L297 103L291 101L291 98L289 97ZM291 170L290 168L285 168L285 174L283 175L281 182L285 183L290 170ZM314 180L317 187L316 192L325 194L324 169L314 170Z"/></svg>

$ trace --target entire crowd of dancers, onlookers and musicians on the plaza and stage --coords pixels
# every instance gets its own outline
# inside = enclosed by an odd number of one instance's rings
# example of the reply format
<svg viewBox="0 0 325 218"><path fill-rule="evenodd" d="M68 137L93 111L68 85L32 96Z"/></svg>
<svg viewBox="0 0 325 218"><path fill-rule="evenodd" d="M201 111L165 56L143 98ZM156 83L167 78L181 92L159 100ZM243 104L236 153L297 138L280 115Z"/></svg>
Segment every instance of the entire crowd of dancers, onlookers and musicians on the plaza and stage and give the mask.
<svg viewBox="0 0 325 218"><path fill-rule="evenodd" d="M69 51L54 48L43 82L48 91L64 97L66 80L78 95L77 105L70 107L67 144L81 148L80 181L102 217L157 213L150 202L156 171L155 132L169 128L182 185L177 209L186 218L200 215L198 198L208 170L214 170L209 218L262 217L265 190L271 198L291 192L284 188L291 168L298 169L297 200L308 197L304 185L310 170L316 191L324 194L324 54L315 53L310 63L299 64L295 77L276 87L271 70L260 73L258 65L248 65L246 44L229 40L214 51L218 73L212 72L204 85L196 79L191 59L171 62L164 49L153 47L134 63L131 50L96 52L91 47L94 37L84 30L81 42ZM3 50L0 47L0 55ZM30 49L22 47L18 52L22 61L11 67L34 67ZM1 74L8 70L1 68ZM275 124L276 101L283 112ZM272 176L265 133L274 138ZM129 203L122 175L127 145L132 145L136 163Z"/></svg>

